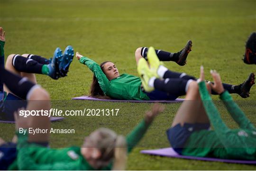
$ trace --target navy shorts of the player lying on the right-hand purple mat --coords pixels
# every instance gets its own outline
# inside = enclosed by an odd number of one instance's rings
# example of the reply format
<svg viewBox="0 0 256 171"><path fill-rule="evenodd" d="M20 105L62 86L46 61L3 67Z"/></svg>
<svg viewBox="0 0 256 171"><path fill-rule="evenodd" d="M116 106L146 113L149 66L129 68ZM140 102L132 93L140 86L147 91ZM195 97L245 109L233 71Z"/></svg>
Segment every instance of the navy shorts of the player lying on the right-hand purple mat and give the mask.
<svg viewBox="0 0 256 171"><path fill-rule="evenodd" d="M184 145L186 144L187 139L194 131L199 131L202 129L209 129L210 124L188 124L185 123L183 126L181 124L177 124L174 127L171 127L166 131L168 140L175 150L175 152L182 154L182 150Z"/></svg>

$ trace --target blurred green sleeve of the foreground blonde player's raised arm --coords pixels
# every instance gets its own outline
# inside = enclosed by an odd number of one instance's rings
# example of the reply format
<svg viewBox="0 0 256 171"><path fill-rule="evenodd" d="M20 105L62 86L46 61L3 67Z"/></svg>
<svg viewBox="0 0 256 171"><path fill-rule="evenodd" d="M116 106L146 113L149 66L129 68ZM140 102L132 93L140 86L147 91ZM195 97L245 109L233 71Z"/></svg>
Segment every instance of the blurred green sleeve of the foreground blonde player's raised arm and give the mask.
<svg viewBox="0 0 256 171"><path fill-rule="evenodd" d="M132 151L136 144L142 139L149 127L143 119L127 136L126 142L128 147L128 153Z"/></svg>

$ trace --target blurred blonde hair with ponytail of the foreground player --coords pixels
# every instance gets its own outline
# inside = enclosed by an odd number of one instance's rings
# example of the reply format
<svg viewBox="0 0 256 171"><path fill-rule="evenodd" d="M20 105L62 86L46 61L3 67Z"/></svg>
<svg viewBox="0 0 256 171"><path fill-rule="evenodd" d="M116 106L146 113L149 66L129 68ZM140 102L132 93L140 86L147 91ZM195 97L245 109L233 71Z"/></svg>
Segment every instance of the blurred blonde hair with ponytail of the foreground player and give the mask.
<svg viewBox="0 0 256 171"><path fill-rule="evenodd" d="M92 139L101 152L99 165L113 160L112 170L125 170L127 162L127 144L123 135L117 135L108 128L94 131Z"/></svg>

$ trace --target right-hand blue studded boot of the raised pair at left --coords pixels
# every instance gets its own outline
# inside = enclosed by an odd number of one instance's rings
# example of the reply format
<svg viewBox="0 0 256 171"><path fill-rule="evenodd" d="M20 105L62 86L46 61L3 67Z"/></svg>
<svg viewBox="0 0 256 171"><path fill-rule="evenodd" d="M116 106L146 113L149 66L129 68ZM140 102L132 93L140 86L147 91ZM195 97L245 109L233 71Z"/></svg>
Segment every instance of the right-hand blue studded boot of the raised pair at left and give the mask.
<svg viewBox="0 0 256 171"><path fill-rule="evenodd" d="M61 63L59 65L59 70L62 77L67 76L69 66L73 61L73 56L74 56L74 49L71 45L69 45L66 47L63 53Z"/></svg>

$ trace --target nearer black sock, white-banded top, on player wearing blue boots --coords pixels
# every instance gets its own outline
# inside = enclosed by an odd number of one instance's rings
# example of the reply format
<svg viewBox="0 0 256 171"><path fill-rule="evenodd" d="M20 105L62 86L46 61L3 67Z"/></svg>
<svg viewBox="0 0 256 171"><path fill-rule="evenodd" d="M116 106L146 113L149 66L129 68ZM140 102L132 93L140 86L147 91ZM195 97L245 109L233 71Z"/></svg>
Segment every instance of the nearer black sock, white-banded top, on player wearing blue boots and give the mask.
<svg viewBox="0 0 256 171"><path fill-rule="evenodd" d="M12 58L12 65L19 72L42 73L43 64L16 54Z"/></svg>

